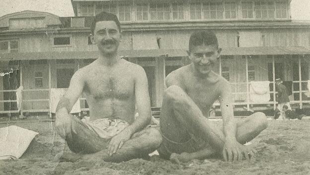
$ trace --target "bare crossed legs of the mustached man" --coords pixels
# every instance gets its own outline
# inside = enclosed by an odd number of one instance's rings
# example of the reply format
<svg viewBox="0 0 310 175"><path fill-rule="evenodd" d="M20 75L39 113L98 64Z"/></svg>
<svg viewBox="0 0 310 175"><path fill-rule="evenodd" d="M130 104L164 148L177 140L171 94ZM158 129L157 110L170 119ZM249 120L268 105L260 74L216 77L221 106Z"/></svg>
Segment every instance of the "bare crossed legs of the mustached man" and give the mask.
<svg viewBox="0 0 310 175"><path fill-rule="evenodd" d="M109 155L108 145L111 140L99 137L90 130L85 123L71 116L71 135L66 137L70 150L78 154L64 153L61 161L75 162L78 160L103 160L106 162L123 162L135 158L147 158L149 153L155 151L162 139L157 129L146 128L135 133L126 141L122 148L112 156Z"/></svg>

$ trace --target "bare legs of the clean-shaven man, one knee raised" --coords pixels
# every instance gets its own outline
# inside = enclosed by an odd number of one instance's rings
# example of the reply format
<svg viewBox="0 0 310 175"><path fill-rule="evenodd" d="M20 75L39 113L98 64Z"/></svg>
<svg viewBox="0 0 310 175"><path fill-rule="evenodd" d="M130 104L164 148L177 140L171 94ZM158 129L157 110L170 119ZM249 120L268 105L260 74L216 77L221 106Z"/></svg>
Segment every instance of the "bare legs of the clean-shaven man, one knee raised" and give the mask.
<svg viewBox="0 0 310 175"><path fill-rule="evenodd" d="M267 119L264 113L256 112L237 122L236 126L236 140L245 144L267 127ZM168 87L165 91L160 131L163 141L158 149L159 155L176 162L221 155L225 144L223 127L206 119L188 94L177 86ZM262 147L257 145L255 149ZM248 154L254 155L255 149L250 149L252 153Z"/></svg>

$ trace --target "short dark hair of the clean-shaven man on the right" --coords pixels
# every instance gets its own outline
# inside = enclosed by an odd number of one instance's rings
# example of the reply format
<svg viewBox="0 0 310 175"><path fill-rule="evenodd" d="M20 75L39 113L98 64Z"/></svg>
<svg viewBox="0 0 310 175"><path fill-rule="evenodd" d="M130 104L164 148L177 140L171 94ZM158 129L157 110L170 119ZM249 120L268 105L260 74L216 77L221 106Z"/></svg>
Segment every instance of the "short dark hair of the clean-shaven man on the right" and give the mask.
<svg viewBox="0 0 310 175"><path fill-rule="evenodd" d="M193 47L200 45L213 45L219 47L218 38L212 31L197 31L191 34L189 38L188 49L191 52Z"/></svg>

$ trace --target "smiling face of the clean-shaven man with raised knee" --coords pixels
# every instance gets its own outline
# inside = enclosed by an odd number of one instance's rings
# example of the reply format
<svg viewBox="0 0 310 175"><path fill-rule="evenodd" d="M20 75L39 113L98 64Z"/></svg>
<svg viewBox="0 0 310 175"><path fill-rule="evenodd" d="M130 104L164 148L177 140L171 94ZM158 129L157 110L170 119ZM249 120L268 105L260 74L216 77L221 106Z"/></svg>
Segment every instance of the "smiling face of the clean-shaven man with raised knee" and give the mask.
<svg viewBox="0 0 310 175"><path fill-rule="evenodd" d="M202 76L207 76L212 71L217 59L220 57L221 49L214 45L194 46L188 51L188 56L194 64L195 70Z"/></svg>

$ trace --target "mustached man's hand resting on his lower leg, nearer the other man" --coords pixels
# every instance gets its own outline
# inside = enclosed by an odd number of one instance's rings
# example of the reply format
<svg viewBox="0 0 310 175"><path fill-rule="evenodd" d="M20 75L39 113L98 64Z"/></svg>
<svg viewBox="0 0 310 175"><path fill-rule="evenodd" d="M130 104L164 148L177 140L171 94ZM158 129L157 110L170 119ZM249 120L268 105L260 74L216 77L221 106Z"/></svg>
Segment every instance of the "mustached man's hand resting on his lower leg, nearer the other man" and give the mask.
<svg viewBox="0 0 310 175"><path fill-rule="evenodd" d="M122 148L123 144L129 140L132 136L132 133L125 128L122 132L114 136L108 146L109 155L112 156L116 151Z"/></svg>

